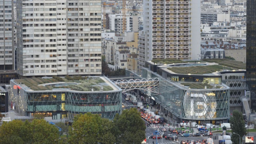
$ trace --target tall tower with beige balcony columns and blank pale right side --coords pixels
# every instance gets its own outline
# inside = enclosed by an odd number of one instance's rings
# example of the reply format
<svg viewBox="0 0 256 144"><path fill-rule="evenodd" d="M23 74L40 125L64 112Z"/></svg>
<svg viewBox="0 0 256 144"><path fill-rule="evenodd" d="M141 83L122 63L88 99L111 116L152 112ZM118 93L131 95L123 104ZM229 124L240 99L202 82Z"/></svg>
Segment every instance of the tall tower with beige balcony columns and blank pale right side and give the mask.
<svg viewBox="0 0 256 144"><path fill-rule="evenodd" d="M199 58L200 0L144 0L143 4L140 68L157 58Z"/></svg>

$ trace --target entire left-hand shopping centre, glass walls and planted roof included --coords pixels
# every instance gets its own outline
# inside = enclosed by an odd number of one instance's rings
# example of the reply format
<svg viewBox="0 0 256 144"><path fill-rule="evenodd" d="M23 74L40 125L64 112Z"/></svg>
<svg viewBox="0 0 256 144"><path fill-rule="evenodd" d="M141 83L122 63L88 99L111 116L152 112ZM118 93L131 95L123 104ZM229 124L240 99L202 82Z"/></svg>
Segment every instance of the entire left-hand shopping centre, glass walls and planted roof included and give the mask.
<svg viewBox="0 0 256 144"><path fill-rule="evenodd" d="M91 112L113 119L122 110L122 90L106 77L54 77L10 80L10 100L23 116L73 120Z"/></svg>

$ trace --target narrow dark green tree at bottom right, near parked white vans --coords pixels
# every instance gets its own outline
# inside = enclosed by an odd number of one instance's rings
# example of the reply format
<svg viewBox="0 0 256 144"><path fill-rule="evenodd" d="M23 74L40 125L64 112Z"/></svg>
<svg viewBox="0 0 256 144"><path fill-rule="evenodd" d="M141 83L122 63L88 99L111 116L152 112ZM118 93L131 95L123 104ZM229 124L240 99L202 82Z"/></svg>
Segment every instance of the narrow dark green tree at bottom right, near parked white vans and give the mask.
<svg viewBox="0 0 256 144"><path fill-rule="evenodd" d="M233 115L230 118L229 122L232 129L232 133L235 132L236 134L239 134L241 138L246 134L245 122L243 119L242 112L234 110ZM231 141L234 144L239 144L239 136L237 136L236 134L232 134Z"/></svg>

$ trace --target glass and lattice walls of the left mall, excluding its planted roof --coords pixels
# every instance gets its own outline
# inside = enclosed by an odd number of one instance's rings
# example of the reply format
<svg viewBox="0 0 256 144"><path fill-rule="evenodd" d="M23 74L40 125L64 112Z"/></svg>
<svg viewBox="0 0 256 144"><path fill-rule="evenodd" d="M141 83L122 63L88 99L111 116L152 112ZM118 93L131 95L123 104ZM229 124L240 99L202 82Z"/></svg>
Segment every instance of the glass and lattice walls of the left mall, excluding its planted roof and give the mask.
<svg viewBox="0 0 256 144"><path fill-rule="evenodd" d="M52 120L73 120L79 113L91 112L103 118L113 119L122 111L122 90L109 79L110 91L75 91L54 89L34 91L11 80L10 100L15 110L24 116L42 113ZM17 86L17 87L16 87ZM51 118L50 118L51 120Z"/></svg>

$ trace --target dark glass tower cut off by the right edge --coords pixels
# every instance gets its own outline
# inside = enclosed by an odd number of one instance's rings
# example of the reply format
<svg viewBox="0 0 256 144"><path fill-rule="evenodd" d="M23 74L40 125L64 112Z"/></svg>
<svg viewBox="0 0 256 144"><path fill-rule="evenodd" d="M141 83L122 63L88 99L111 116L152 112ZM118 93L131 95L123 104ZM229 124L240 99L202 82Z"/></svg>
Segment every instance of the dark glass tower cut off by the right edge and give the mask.
<svg viewBox="0 0 256 144"><path fill-rule="evenodd" d="M247 0L246 82L251 92L251 108L256 110L256 1Z"/></svg>

